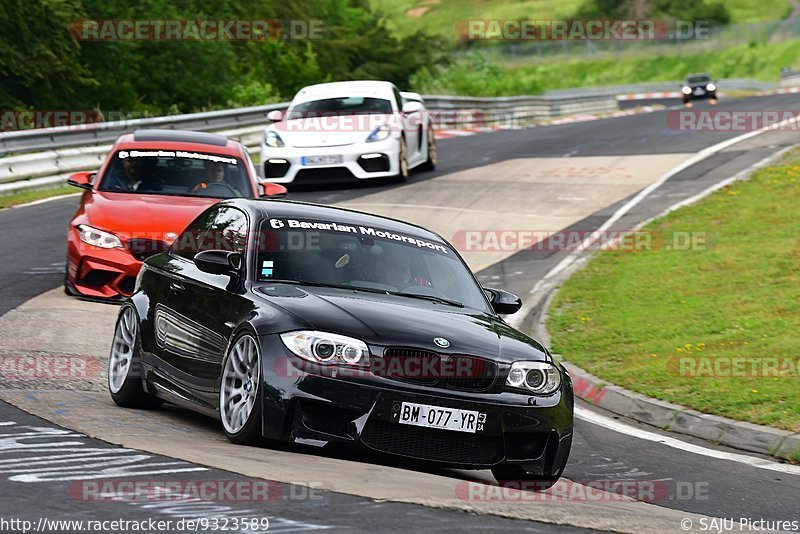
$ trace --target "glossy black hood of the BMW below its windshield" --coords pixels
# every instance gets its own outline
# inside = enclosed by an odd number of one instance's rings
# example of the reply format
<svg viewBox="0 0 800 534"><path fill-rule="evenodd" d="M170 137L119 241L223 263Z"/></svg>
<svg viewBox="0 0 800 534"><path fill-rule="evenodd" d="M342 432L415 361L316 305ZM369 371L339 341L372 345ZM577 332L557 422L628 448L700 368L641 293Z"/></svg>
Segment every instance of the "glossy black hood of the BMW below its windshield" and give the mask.
<svg viewBox="0 0 800 534"><path fill-rule="evenodd" d="M352 336L371 345L418 347L498 362L549 359L536 341L488 313L424 300L329 288L261 286L257 294L291 313L298 329ZM446 349L434 338L450 341Z"/></svg>

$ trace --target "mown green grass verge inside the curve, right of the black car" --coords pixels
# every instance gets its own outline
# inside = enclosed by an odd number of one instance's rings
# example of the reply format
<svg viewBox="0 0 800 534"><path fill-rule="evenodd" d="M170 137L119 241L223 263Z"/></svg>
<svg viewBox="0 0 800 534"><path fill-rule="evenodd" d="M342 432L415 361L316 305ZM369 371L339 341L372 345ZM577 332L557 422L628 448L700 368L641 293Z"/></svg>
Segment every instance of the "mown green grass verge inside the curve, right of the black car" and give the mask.
<svg viewBox="0 0 800 534"><path fill-rule="evenodd" d="M555 351L650 397L800 431L798 209L794 151L644 229L654 243L689 232L705 246L598 253L553 302Z"/></svg>

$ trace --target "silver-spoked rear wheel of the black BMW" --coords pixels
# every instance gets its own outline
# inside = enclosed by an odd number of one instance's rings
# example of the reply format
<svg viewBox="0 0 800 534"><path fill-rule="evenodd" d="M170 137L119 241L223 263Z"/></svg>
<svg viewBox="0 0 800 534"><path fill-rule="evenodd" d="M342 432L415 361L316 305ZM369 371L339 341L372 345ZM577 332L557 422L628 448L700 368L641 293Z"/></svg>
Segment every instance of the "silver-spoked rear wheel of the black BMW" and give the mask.
<svg viewBox="0 0 800 534"><path fill-rule="evenodd" d="M131 305L119 312L108 357L108 391L118 406L155 409L163 404L142 388L142 341L139 319Z"/></svg>

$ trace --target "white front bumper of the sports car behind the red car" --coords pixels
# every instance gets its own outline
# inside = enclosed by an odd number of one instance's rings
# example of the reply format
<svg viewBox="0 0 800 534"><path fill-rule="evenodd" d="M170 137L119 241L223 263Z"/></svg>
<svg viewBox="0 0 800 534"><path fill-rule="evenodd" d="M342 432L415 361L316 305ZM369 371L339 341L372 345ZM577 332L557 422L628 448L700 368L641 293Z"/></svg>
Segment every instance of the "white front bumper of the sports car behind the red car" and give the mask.
<svg viewBox="0 0 800 534"><path fill-rule="evenodd" d="M400 173L400 143L390 137L375 143L330 147L268 147L261 143L261 175L271 182L325 182L386 178ZM368 156L364 159L363 156ZM379 155L379 156L378 156ZM303 165L307 156L342 156L341 164Z"/></svg>

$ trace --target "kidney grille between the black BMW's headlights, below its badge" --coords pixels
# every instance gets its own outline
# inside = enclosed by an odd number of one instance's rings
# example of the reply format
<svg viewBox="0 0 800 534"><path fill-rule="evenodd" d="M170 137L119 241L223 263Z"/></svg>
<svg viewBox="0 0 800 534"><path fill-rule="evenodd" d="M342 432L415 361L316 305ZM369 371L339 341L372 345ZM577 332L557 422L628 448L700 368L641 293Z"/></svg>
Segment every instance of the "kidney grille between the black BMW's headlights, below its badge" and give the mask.
<svg viewBox="0 0 800 534"><path fill-rule="evenodd" d="M382 359L373 359L372 371L415 384L484 391L495 382L497 364L475 356L443 357L428 350L391 347Z"/></svg>

